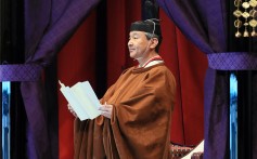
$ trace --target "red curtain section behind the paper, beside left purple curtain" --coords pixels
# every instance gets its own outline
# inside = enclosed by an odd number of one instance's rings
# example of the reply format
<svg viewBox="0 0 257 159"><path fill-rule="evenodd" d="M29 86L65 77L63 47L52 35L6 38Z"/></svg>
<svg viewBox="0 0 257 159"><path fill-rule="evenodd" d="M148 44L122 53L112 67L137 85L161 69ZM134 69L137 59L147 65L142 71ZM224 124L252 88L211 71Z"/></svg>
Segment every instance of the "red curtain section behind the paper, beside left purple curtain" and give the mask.
<svg viewBox="0 0 257 159"><path fill-rule="evenodd" d="M57 78L65 85L89 80L95 83L95 11L90 14L75 35L65 44L57 57ZM60 159L72 159L74 117L67 109L67 102L59 92L59 149Z"/></svg>

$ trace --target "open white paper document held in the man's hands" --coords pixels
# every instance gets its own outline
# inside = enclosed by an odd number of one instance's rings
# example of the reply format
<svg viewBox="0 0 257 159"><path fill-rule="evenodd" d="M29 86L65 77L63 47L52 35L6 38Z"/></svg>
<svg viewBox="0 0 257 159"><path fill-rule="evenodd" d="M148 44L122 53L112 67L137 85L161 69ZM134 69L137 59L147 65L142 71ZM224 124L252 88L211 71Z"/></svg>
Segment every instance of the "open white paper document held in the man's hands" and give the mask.
<svg viewBox="0 0 257 159"><path fill-rule="evenodd" d="M61 92L80 120L94 119L101 115L98 109L101 104L89 81L77 82L72 88L59 82Z"/></svg>

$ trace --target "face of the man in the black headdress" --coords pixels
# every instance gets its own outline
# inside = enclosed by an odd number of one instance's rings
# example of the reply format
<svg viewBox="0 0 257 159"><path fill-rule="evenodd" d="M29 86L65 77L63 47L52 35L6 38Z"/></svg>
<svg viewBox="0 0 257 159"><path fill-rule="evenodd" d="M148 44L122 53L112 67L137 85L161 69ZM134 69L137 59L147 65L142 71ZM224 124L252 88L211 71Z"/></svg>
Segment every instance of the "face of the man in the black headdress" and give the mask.
<svg viewBox="0 0 257 159"><path fill-rule="evenodd" d="M143 31L130 31L128 49L130 57L138 59L144 57L147 52L149 40Z"/></svg>

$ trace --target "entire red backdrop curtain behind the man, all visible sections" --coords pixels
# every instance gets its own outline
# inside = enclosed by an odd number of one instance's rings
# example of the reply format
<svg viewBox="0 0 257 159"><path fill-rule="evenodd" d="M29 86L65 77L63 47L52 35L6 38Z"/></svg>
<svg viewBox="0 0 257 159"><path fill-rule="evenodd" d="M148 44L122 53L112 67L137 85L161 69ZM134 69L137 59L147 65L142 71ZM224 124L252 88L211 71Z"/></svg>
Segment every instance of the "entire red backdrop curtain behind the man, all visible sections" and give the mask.
<svg viewBox="0 0 257 159"><path fill-rule="evenodd" d="M141 19L141 1L106 1L106 83L113 84L123 68L134 64L127 49L130 23ZM95 88L95 12L92 12L59 53L59 79L66 85L89 80ZM177 79L177 103L172 114L171 142L196 145L204 138L205 54L180 32L160 10L160 55ZM98 72L99 74L99 72ZM98 92L97 92L98 93ZM73 158L73 120L67 102L59 92L60 159Z"/></svg>

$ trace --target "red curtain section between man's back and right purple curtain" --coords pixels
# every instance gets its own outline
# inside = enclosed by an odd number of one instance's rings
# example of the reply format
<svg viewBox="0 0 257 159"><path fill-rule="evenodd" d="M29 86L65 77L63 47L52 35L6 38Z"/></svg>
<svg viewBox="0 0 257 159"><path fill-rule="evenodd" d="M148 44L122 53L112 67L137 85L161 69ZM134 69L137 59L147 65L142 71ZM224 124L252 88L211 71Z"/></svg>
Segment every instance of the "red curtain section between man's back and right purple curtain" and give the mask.
<svg viewBox="0 0 257 159"><path fill-rule="evenodd" d="M160 10L160 55L177 80L171 142L196 145L204 138L204 78L207 58Z"/></svg>

